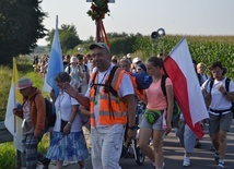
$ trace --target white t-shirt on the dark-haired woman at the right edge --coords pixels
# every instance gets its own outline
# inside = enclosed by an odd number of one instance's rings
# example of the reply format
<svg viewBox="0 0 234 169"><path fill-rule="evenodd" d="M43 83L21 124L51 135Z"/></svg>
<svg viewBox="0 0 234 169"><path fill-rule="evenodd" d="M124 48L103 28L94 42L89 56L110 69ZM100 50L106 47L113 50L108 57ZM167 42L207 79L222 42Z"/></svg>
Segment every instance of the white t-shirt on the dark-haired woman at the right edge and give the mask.
<svg viewBox="0 0 234 169"><path fill-rule="evenodd" d="M218 89L218 86L220 85L222 85L225 88L225 81L226 79L223 79L222 81L214 80L213 82L213 86L211 89L212 99L210 104L210 108L213 110L225 110L225 109L230 109L232 106L232 102L227 100L225 96ZM207 92L210 93L210 83L207 86ZM230 82L229 92L231 93L234 92L234 83L232 81Z"/></svg>

